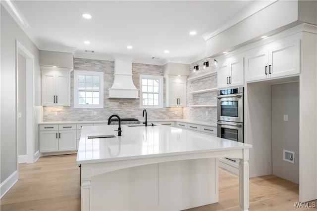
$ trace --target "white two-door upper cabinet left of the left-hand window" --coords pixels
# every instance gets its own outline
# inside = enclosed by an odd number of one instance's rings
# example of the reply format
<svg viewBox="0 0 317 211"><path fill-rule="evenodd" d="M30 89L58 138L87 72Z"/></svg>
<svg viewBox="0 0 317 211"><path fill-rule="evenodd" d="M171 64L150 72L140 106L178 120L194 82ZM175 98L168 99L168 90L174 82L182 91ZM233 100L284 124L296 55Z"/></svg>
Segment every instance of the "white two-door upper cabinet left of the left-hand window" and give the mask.
<svg viewBox="0 0 317 211"><path fill-rule="evenodd" d="M70 106L70 72L42 67L42 105Z"/></svg>

